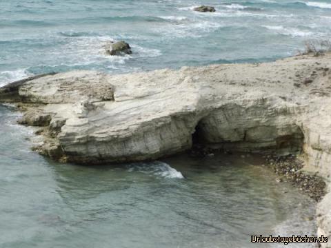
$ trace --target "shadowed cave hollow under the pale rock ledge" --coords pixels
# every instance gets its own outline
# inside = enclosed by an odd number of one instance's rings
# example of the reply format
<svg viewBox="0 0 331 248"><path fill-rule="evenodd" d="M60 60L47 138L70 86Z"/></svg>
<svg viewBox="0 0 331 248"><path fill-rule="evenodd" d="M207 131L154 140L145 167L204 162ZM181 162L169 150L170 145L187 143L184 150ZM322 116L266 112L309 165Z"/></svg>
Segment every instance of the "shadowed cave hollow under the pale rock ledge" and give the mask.
<svg viewBox="0 0 331 248"><path fill-rule="evenodd" d="M250 123L249 123L250 124ZM223 149L228 152L255 154L300 154L303 150L304 135L301 128L289 125L248 125L236 123L225 128L210 127L199 121L192 134L193 149Z"/></svg>

